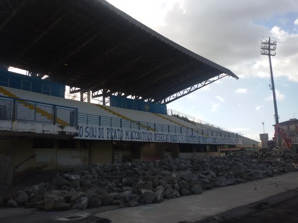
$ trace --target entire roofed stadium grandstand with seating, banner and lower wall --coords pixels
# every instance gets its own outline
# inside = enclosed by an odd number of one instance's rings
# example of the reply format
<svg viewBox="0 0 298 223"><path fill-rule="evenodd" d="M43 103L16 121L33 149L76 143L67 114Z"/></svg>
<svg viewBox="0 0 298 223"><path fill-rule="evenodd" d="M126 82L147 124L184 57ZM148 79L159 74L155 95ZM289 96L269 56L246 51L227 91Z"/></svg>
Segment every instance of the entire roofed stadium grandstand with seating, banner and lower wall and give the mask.
<svg viewBox="0 0 298 223"><path fill-rule="evenodd" d="M219 156L220 146L242 144L239 133L167 109L238 79L223 66L105 0L0 0L0 8L1 186L28 170Z"/></svg>

